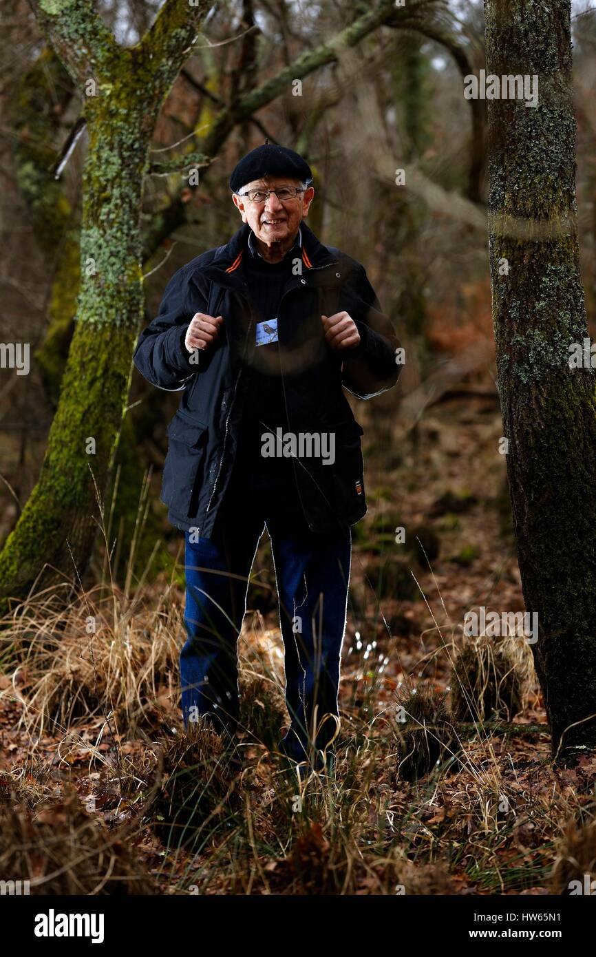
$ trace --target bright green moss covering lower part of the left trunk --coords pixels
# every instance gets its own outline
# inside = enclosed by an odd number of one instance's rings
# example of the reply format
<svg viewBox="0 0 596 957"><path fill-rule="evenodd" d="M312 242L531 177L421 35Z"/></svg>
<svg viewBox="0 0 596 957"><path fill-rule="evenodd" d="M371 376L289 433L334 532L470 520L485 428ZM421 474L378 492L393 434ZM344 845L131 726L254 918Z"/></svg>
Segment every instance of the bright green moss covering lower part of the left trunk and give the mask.
<svg viewBox="0 0 596 957"><path fill-rule="evenodd" d="M41 565L82 574L99 517L101 496L128 392L136 333L106 326L99 334L77 324L48 437L41 475L0 554L2 593L18 594ZM96 454L87 455L88 437ZM70 558L72 553L72 558ZM82 563L82 566L79 565Z"/></svg>

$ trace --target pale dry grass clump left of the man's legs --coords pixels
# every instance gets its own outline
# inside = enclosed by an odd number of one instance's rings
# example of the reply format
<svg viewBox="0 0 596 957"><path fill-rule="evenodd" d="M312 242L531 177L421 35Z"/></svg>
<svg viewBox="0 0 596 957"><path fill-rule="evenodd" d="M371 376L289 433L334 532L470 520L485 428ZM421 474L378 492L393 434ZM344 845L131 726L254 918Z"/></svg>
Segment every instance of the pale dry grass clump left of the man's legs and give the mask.
<svg viewBox="0 0 596 957"><path fill-rule="evenodd" d="M21 606L3 634L1 694L23 705L31 734L98 715L131 729L159 726L177 700L183 623L169 588L153 598L143 607L98 587L61 611L43 596Z"/></svg>

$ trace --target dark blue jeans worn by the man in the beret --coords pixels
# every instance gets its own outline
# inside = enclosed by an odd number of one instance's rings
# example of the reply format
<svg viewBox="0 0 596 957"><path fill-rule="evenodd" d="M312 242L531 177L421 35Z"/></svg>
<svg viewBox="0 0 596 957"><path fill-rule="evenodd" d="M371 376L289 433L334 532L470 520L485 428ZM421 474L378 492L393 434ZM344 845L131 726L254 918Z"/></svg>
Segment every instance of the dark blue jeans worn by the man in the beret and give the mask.
<svg viewBox="0 0 596 957"><path fill-rule="evenodd" d="M183 717L188 726L198 716L209 716L217 730L229 734L237 726L236 644L254 554L266 527L276 569L291 721L280 748L301 761L309 746L323 749L337 732L333 716L339 716L351 531L340 526L333 534L311 532L291 473L277 470L267 478L240 469L234 476L213 537L186 532Z"/></svg>

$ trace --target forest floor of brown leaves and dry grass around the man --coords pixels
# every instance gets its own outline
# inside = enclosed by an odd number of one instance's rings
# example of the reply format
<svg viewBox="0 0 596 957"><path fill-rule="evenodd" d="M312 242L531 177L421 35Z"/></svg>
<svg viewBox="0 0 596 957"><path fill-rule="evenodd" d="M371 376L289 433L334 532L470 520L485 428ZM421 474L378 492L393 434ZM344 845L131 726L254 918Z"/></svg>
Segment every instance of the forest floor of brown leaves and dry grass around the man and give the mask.
<svg viewBox="0 0 596 957"><path fill-rule="evenodd" d="M523 609L500 430L495 397L455 396L393 443L388 467L367 450L330 777L298 780L276 754L287 715L266 536L235 755L182 728L180 578L15 613L2 874L32 893L431 895L565 893L591 873L596 758L553 767L523 635L463 634L472 609Z"/></svg>

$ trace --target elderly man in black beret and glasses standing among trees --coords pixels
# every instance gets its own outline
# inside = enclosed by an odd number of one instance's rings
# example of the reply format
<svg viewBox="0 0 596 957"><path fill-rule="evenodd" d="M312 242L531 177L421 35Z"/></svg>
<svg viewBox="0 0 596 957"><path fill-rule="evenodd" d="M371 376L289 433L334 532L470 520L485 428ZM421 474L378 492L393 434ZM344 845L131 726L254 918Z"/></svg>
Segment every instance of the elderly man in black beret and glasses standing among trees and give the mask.
<svg viewBox="0 0 596 957"><path fill-rule="evenodd" d="M236 643L265 527L276 568L288 758L328 767L351 559L364 516L363 429L342 387L367 399L397 381L391 323L364 267L304 219L312 172L291 149L235 167L243 225L168 282L134 361L182 392L167 428L162 501L185 531L185 724L238 722Z"/></svg>

